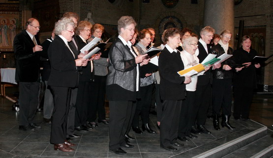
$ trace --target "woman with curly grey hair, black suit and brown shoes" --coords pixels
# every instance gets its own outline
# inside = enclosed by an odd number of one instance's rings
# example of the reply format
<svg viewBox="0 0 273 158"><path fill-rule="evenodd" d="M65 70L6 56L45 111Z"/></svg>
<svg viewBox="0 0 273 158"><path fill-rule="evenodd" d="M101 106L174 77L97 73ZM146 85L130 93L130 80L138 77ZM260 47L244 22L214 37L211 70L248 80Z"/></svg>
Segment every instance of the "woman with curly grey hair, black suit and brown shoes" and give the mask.
<svg viewBox="0 0 273 158"><path fill-rule="evenodd" d="M66 122L69 110L71 88L78 85L77 66L87 64L86 59L79 58L71 51L68 42L74 35L75 24L63 18L55 25L56 38L48 49L51 63L51 74L48 85L51 86L54 98L53 119L50 142L55 150L71 152L75 144L66 140Z"/></svg>

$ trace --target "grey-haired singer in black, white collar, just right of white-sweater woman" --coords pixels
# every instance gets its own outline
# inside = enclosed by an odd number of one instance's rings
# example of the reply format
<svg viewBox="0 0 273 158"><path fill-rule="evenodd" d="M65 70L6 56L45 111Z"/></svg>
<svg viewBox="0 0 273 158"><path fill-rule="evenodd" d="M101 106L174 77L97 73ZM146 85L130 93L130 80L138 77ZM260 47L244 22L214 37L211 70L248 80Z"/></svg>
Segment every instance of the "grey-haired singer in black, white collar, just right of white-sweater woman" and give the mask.
<svg viewBox="0 0 273 158"><path fill-rule="evenodd" d="M198 49L195 54L199 58L199 63L202 63L203 60L208 56L209 53L212 53L211 47L209 44L211 43L213 34L215 33L214 28L210 26L206 26L202 28L200 31L201 38L198 41ZM221 64L213 65L213 68L219 68ZM208 70L204 73L204 75L198 76L197 86L196 86L196 111L193 114L194 118L196 118L196 125L192 127L192 133L200 134L211 132L205 128L207 112L212 99L212 72Z"/></svg>

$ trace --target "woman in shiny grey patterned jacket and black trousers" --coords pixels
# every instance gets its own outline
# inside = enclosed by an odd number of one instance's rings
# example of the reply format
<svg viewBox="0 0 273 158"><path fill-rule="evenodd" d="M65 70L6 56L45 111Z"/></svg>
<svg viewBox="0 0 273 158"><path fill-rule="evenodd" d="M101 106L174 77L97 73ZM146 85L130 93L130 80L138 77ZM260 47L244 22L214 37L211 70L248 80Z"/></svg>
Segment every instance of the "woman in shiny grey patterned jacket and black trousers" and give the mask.
<svg viewBox="0 0 273 158"><path fill-rule="evenodd" d="M135 33L136 22L130 16L122 16L118 21L119 36L109 51L109 72L106 79L106 95L109 100L110 121L109 149L124 155L126 152L121 147L132 148L125 142L125 132L131 117L134 116L139 90L139 67L149 62L146 55L134 52L129 41Z"/></svg>

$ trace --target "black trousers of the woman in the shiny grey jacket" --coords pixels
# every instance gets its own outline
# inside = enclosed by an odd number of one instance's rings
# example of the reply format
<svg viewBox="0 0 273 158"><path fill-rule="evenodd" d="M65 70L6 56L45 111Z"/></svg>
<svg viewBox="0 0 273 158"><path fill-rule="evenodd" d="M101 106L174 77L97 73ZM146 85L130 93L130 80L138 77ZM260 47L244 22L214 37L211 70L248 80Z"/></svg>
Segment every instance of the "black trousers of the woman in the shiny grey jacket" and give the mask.
<svg viewBox="0 0 273 158"><path fill-rule="evenodd" d="M125 133L132 115L132 104L132 101L109 101L110 150L120 148L125 144Z"/></svg>

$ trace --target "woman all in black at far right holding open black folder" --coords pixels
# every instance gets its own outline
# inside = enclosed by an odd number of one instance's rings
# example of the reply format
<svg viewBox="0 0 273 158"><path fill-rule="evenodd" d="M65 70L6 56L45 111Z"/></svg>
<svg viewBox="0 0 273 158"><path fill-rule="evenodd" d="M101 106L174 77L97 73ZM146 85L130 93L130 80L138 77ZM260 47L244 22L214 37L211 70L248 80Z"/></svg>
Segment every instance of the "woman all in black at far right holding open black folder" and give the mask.
<svg viewBox="0 0 273 158"><path fill-rule="evenodd" d="M251 63L257 52L251 49L250 37L242 37L242 47L233 52L236 64L244 64L244 68L234 75L234 111L235 120L249 120L249 109L252 103L253 90L257 88L256 68L260 68L259 63Z"/></svg>

